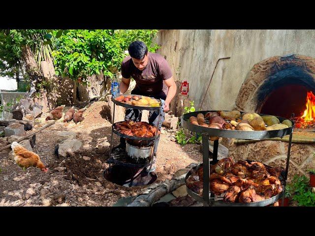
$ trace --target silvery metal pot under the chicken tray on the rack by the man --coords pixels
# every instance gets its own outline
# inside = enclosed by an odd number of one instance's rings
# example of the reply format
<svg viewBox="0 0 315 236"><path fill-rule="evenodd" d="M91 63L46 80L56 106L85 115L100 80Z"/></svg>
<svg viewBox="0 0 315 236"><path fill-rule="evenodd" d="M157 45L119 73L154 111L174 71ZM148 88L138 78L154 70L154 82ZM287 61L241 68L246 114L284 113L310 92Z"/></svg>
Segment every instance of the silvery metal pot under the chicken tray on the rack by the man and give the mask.
<svg viewBox="0 0 315 236"><path fill-rule="evenodd" d="M134 164L146 164L151 161L154 142L147 147L136 147L126 142L126 153L129 161Z"/></svg>

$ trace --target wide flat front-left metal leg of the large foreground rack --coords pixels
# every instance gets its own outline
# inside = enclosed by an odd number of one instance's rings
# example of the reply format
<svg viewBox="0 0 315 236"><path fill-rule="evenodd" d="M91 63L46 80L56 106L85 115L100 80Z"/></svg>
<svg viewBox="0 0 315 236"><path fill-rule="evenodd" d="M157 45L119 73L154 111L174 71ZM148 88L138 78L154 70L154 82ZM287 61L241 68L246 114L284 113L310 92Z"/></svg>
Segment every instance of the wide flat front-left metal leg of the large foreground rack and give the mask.
<svg viewBox="0 0 315 236"><path fill-rule="evenodd" d="M203 152L203 206L209 207L209 136L202 134L202 152Z"/></svg>

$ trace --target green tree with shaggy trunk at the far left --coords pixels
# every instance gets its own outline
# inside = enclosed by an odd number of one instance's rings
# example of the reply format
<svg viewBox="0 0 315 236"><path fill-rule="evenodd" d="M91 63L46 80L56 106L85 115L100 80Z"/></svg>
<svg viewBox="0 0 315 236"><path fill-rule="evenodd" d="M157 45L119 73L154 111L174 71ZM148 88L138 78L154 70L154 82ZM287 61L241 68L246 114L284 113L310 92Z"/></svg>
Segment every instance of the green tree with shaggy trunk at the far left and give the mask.
<svg viewBox="0 0 315 236"><path fill-rule="evenodd" d="M52 61L53 42L46 29L6 29L0 30L0 73L19 78L26 70L31 80L29 96L42 80L40 62Z"/></svg>

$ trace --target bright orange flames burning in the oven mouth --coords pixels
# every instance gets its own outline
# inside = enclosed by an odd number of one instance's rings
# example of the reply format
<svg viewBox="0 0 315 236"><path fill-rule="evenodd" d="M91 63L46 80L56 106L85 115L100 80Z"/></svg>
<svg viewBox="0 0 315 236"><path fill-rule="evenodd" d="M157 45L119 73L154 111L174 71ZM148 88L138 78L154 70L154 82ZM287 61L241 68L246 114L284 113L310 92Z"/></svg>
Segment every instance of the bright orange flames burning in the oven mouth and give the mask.
<svg viewBox="0 0 315 236"><path fill-rule="evenodd" d="M314 124L315 120L315 95L312 91L307 92L306 109L301 117L298 118L296 123L297 128L309 128ZM312 125L313 126L313 125Z"/></svg>

